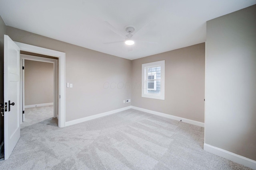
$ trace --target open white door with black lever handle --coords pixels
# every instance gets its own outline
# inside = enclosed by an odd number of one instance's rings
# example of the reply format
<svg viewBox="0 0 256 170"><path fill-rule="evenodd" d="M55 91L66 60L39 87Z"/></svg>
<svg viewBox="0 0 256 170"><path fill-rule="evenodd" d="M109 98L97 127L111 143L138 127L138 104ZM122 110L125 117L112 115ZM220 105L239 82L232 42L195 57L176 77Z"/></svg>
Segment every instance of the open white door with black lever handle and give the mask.
<svg viewBox="0 0 256 170"><path fill-rule="evenodd" d="M20 48L4 35L4 159L20 139Z"/></svg>

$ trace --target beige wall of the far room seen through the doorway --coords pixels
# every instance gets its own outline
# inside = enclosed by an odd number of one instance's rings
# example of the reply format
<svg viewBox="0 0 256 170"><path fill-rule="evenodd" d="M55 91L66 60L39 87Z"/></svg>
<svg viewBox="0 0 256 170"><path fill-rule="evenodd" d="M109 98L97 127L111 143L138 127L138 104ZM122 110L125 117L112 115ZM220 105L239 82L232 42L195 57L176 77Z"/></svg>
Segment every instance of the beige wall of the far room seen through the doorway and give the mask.
<svg viewBox="0 0 256 170"><path fill-rule="evenodd" d="M25 60L24 66L25 106L53 103L53 63Z"/></svg>

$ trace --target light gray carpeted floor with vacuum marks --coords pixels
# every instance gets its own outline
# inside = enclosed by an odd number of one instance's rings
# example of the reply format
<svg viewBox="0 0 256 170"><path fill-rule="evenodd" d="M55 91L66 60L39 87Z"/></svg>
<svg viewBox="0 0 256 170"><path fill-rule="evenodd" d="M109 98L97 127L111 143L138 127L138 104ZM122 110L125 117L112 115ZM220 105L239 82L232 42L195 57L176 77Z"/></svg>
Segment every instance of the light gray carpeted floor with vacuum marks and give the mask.
<svg viewBox="0 0 256 170"><path fill-rule="evenodd" d="M31 121L22 124L20 140L10 158L0 161L1 170L250 169L204 151L202 127L128 109L58 128L50 107L30 108ZM46 119L33 120L33 109Z"/></svg>

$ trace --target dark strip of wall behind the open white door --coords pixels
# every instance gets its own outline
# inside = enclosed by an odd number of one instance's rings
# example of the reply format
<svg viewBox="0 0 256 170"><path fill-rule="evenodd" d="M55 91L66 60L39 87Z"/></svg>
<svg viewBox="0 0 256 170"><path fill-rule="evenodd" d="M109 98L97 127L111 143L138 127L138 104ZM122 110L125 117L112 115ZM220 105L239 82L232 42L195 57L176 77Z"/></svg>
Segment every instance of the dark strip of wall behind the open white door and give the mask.
<svg viewBox="0 0 256 170"><path fill-rule="evenodd" d="M0 103L2 104L4 104L4 34L6 34L6 25L0 16ZM0 145L3 141L4 117L0 114Z"/></svg>

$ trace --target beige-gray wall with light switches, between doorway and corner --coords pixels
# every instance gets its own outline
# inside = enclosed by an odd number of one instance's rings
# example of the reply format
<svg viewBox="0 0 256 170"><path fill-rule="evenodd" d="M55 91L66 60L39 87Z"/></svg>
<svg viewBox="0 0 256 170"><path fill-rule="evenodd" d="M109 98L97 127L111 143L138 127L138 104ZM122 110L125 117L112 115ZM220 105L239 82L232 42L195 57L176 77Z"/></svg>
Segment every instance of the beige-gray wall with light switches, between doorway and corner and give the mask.
<svg viewBox="0 0 256 170"><path fill-rule="evenodd" d="M66 121L131 105L123 100L131 98L132 61L14 27L6 26L6 33L14 41L66 53L66 82L73 84L66 88Z"/></svg>

